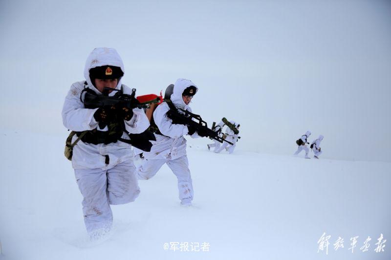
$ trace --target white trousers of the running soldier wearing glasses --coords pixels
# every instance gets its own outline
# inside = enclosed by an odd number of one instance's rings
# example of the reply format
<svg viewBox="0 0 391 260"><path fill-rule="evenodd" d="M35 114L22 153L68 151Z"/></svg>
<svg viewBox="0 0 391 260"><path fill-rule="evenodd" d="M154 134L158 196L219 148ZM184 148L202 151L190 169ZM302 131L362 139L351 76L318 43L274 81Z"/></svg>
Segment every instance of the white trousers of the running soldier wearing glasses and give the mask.
<svg viewBox="0 0 391 260"><path fill-rule="evenodd" d="M179 199L193 200L193 181L189 170L189 161L184 155L180 158L170 159L144 159L143 164L138 169L139 180L149 180L166 163L178 179Z"/></svg>

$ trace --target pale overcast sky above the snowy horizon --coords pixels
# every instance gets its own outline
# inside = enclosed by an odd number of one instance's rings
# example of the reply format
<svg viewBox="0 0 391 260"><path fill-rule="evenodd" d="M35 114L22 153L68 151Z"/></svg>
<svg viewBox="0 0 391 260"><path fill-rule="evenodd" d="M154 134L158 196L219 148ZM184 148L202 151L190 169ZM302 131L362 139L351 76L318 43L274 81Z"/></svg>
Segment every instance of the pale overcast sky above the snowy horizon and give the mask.
<svg viewBox="0 0 391 260"><path fill-rule="evenodd" d="M241 123L238 149L391 161L391 1L0 0L2 128L64 135L61 109L95 47L139 95L193 80L195 113Z"/></svg>

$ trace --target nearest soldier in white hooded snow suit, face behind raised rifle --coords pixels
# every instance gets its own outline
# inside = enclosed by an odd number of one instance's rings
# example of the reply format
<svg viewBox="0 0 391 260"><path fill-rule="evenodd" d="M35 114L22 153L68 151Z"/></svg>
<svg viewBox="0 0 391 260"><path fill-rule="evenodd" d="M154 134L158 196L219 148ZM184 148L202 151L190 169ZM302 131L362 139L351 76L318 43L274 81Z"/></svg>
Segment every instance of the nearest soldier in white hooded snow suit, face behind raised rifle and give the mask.
<svg viewBox="0 0 391 260"><path fill-rule="evenodd" d="M124 204L140 193L130 144L117 140L129 139L124 128L114 137L108 135L108 125L121 124L132 134L144 132L149 120L139 108L111 107L87 109L82 100L86 90L102 95L105 88L130 94L130 88L121 84L124 64L111 48L95 48L88 56L84 70L85 80L75 82L65 98L62 111L67 129L88 130L73 148L72 166L83 195L83 213L87 232L92 240L106 235L112 225L111 205ZM108 91L114 96L117 91ZM75 135L72 142L77 139Z"/></svg>

